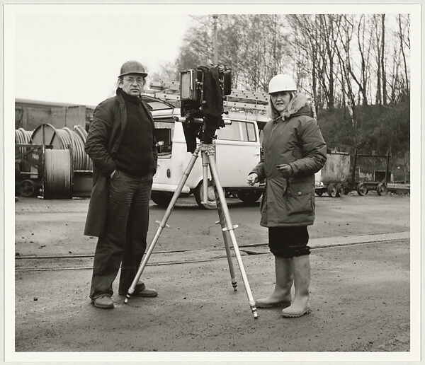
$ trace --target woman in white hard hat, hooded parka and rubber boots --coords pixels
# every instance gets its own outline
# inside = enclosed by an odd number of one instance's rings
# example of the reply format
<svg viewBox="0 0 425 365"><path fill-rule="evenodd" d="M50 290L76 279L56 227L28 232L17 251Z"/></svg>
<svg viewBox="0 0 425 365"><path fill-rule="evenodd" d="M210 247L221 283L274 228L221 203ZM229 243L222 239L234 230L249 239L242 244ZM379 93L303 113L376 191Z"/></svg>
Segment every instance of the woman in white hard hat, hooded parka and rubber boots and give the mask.
<svg viewBox="0 0 425 365"><path fill-rule="evenodd" d="M276 286L270 296L256 300L256 306L283 306L284 317L300 317L311 311L307 226L314 222L314 173L324 166L327 148L316 120L310 117L306 96L296 93L290 76L274 76L268 93L271 120L263 129L263 161L249 173L247 182L266 182L260 224L268 227Z"/></svg>

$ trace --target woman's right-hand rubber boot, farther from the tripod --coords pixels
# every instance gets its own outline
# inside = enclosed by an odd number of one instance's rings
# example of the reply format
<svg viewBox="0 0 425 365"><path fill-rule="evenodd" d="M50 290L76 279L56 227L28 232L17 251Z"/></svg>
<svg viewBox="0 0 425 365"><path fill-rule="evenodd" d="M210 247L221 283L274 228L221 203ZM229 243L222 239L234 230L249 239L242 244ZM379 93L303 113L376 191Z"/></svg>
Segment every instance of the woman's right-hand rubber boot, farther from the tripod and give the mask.
<svg viewBox="0 0 425 365"><path fill-rule="evenodd" d="M282 310L283 317L301 317L311 312L309 291L310 286L310 255L293 257L293 274L295 299L293 303Z"/></svg>

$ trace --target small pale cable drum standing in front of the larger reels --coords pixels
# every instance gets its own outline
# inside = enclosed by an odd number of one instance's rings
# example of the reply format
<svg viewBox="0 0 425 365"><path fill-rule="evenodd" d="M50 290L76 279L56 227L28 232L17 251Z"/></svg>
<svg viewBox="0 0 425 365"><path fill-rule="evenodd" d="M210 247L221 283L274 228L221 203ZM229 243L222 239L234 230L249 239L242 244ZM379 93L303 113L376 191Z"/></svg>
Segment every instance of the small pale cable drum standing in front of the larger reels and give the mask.
<svg viewBox="0 0 425 365"><path fill-rule="evenodd" d="M72 197L72 155L69 149L46 149L43 197Z"/></svg>

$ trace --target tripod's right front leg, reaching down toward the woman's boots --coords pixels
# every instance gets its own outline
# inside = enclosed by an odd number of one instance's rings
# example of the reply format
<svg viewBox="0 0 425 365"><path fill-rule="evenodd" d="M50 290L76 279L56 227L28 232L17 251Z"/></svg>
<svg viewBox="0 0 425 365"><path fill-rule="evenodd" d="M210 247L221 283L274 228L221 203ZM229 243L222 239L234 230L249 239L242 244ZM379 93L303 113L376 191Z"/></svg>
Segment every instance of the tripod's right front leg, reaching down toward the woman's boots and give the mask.
<svg viewBox="0 0 425 365"><path fill-rule="evenodd" d="M252 296L251 287L249 286L248 278L246 277L246 272L245 272L245 269L244 269L244 263L242 262L241 253L239 252L239 246L237 245L237 242L236 242L236 236L234 236L234 226L232 224L232 220L230 219L229 208L227 208L227 203L226 203L226 199L225 199L225 193L222 190L222 186L221 186L220 180L218 178L217 166L215 166L214 154L213 153L208 154L208 159L210 160L211 175L212 175L212 178L214 179L215 187L217 188L217 193L220 197L220 202L222 204L222 211L223 211L223 214L225 216L225 221L226 221L226 224L227 224L227 227L223 228L223 229L225 229L225 230L227 230L227 232L229 232L229 236L232 240L232 244L233 244L233 248L234 248L234 253L235 253L236 258L237 258L237 263L239 265L239 270L241 271L242 279L244 281L246 296L248 296L248 301L249 301L249 306L251 307L251 312L254 315L254 318L258 318L254 297Z"/></svg>

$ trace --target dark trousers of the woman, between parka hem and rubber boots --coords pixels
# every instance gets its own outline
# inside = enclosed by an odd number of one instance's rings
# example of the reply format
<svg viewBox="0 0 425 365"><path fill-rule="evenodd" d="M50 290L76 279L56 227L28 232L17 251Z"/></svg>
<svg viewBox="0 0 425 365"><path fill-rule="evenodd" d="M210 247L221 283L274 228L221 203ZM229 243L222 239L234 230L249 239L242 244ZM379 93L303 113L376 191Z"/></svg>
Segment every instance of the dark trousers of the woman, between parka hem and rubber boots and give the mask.
<svg viewBox="0 0 425 365"><path fill-rule="evenodd" d="M310 255L307 226L268 227L268 248L278 257Z"/></svg>

